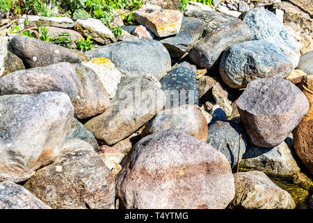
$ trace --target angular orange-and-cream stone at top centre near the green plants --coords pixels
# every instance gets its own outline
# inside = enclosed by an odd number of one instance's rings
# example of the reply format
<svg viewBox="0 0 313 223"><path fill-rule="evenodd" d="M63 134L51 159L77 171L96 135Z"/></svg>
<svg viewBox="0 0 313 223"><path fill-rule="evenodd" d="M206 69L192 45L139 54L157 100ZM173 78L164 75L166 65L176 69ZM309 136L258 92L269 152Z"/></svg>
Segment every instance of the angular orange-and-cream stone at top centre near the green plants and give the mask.
<svg viewBox="0 0 313 223"><path fill-rule="evenodd" d="M179 10L152 9L135 10L133 16L139 24L147 27L159 37L179 33L183 17Z"/></svg>

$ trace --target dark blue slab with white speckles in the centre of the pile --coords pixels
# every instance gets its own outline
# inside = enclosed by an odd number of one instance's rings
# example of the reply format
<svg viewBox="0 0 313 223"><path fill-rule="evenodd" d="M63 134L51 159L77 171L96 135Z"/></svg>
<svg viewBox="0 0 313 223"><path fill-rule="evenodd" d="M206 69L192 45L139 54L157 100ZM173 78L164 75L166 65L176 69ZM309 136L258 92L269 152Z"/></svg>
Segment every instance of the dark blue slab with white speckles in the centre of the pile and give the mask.
<svg viewBox="0 0 313 223"><path fill-rule="evenodd" d="M182 66L168 72L160 81L162 90L166 93L166 109L179 105L198 105L198 86L195 72Z"/></svg>

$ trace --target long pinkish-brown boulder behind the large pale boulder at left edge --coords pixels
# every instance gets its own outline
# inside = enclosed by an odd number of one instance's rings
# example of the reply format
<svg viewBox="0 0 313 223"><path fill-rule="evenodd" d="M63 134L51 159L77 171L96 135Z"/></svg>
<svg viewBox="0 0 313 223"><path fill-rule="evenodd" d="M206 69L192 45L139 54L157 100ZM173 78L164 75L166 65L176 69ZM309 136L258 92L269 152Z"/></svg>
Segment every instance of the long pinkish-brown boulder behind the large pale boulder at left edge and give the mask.
<svg viewBox="0 0 313 223"><path fill-rule="evenodd" d="M109 95L99 77L82 64L58 63L18 70L0 79L1 95L43 91L61 91L69 95L77 118L95 116L110 105Z"/></svg>

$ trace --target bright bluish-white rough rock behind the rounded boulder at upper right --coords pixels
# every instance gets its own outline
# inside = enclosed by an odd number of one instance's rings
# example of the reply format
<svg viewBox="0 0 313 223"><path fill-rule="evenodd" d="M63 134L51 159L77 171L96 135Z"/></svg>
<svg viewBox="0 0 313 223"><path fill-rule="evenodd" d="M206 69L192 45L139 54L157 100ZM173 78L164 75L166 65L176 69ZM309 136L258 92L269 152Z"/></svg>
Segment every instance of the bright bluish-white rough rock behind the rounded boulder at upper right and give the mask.
<svg viewBox="0 0 313 223"><path fill-rule="evenodd" d="M300 43L287 32L274 13L264 8L252 8L240 18L250 27L253 40L268 40L290 57L294 68L298 66Z"/></svg>

